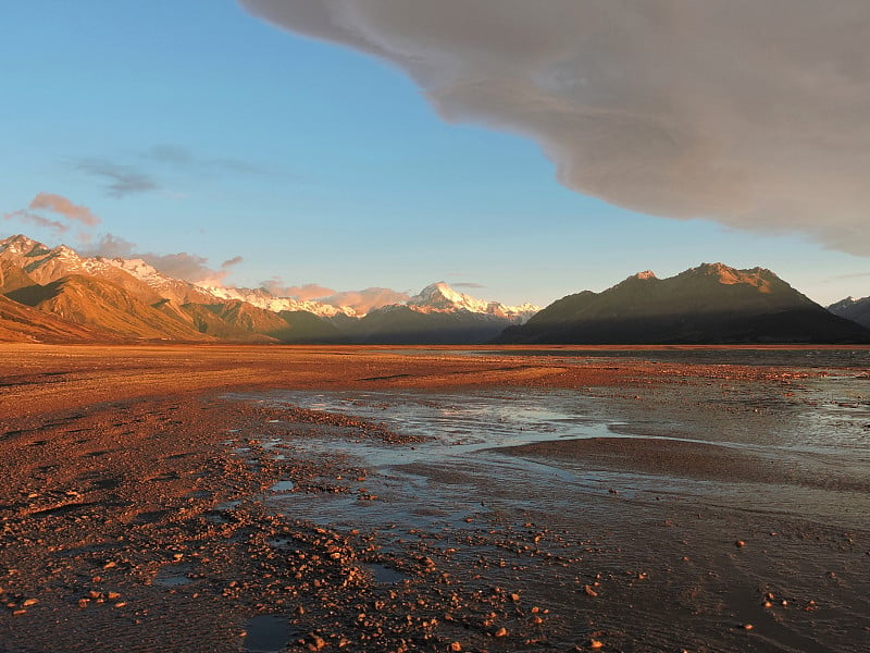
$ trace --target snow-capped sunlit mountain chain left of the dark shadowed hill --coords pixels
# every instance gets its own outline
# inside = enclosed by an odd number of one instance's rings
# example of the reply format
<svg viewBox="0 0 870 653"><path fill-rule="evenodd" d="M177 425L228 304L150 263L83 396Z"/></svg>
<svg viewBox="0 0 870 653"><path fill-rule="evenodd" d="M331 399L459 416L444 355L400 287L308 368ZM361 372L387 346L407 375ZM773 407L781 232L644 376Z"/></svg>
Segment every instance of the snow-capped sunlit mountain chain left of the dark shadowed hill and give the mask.
<svg viewBox="0 0 870 653"><path fill-rule="evenodd" d="M520 324L538 307L506 306L459 293L444 282L405 305L360 313L264 288L201 286L162 274L141 259L80 256L23 235L0 241L0 294L46 319L85 326L26 328L0 313L0 338L243 343L469 344ZM2 308L2 307L0 307ZM12 309L3 309L12 315ZM34 318L35 319L35 318ZM9 322L7 324L5 322ZM8 333L7 333L8 332ZM16 335L13 337L11 333Z"/></svg>

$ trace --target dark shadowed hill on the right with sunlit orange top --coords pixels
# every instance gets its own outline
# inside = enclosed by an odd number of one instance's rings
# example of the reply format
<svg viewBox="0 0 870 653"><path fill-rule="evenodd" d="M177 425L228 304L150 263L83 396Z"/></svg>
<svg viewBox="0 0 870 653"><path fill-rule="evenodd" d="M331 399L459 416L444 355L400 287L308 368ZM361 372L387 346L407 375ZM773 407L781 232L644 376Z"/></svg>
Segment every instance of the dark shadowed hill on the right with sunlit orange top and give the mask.
<svg viewBox="0 0 870 653"><path fill-rule="evenodd" d="M870 332L829 313L779 276L701 264L672 276L630 276L602 292L555 301L499 343L836 343Z"/></svg>

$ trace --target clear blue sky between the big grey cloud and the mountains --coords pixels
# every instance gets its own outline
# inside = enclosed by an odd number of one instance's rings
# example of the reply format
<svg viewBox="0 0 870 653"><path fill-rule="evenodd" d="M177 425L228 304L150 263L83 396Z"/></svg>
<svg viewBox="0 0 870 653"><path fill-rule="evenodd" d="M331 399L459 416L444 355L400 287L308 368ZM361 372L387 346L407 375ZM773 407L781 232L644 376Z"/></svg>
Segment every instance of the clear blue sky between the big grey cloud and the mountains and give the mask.
<svg viewBox="0 0 870 653"><path fill-rule="evenodd" d="M111 234L126 251L187 252L215 270L241 257L225 282L245 286L444 280L546 305L722 261L770 268L825 304L870 294L865 252L811 225L743 229L595 199L557 181L534 135L448 123L400 62L294 35L235 1L3 11L2 236L97 248ZM34 224L23 211L39 193L101 222Z"/></svg>

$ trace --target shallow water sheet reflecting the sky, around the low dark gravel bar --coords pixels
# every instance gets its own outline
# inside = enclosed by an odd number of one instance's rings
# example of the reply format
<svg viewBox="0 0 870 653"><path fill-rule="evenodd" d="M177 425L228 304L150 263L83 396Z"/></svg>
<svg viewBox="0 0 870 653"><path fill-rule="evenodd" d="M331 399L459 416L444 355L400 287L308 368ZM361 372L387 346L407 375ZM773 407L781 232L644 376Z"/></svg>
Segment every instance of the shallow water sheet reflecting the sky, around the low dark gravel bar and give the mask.
<svg viewBox="0 0 870 653"><path fill-rule="evenodd" d="M706 384L705 384L706 383ZM641 392L642 394L635 394ZM499 501L512 507L573 509L584 496L619 489L624 500L693 497L708 505L862 523L870 513L868 381L819 377L799 383L713 380L661 384L631 394L507 389L463 392L276 392L246 397L359 416L426 442L385 445L337 435L288 438L286 452L340 453L370 471L362 505L353 495L279 495L297 515L341 522L370 513L372 523L458 522ZM293 429L293 424L288 424ZM582 458L549 461L499 449L587 438L662 438L728 447L759 461L758 478L699 478L680 470L648 473ZM289 447L289 448L287 448ZM771 465L782 473L765 478ZM766 467L767 466L767 467ZM783 478L788 480L785 484ZM808 479L803 482L801 479ZM811 482L810 482L811 481ZM485 486L484 486L485 485ZM558 494L542 491L558 488ZM483 501L483 504L481 503ZM579 503L580 502L580 503Z"/></svg>

